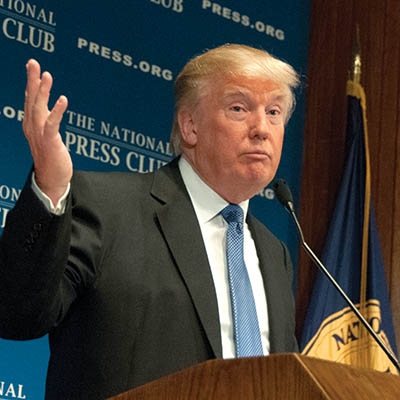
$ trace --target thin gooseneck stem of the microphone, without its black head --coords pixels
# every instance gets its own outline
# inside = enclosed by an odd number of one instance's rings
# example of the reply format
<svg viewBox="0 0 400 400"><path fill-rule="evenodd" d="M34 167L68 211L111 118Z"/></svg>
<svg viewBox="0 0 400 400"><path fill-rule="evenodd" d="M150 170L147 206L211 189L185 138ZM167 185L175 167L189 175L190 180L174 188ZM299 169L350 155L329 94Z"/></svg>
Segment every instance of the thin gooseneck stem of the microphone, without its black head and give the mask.
<svg viewBox="0 0 400 400"><path fill-rule="evenodd" d="M300 223L297 219L296 213L294 211L294 206L292 201L287 201L286 205L284 205L285 208L289 211L290 215L292 216L296 227L297 231L299 233L300 241L301 244L304 248L304 250L307 252L307 254L311 257L312 261L316 266L319 268L319 270L331 281L335 289L341 294L343 299L347 302L347 304L350 306L350 308L353 310L354 314L357 315L358 319L360 322L364 325L364 327L367 329L367 331L372 335L372 337L375 339L375 341L378 343L378 345L381 347L381 349L384 351L384 353L387 355L389 360L392 362L392 364L397 368L397 370L400 372L400 363L397 360L396 356L393 354L393 352L385 345L383 340L376 334L376 332L372 329L371 325L368 323L368 321L364 318L364 316L360 313L358 308L354 305L354 303L350 300L350 298L347 296L347 294L343 291L343 289L339 286L339 284L336 282L336 280L333 278L333 276L329 273L329 271L326 269L324 264L319 260L319 258L315 255L315 253L311 250L310 246L306 243L304 240L304 235L303 231L301 229Z"/></svg>

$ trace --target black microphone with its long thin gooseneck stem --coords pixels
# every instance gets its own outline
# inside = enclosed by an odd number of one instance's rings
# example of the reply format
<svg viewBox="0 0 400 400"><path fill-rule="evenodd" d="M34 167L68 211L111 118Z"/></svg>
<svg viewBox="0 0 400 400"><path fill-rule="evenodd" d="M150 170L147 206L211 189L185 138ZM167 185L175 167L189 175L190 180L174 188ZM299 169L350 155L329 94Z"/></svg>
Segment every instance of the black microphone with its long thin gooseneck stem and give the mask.
<svg viewBox="0 0 400 400"><path fill-rule="evenodd" d="M330 272L327 270L327 268L322 264L320 259L315 255L315 253L311 250L310 246L306 243L304 240L304 235L303 231L301 229L299 220L297 219L296 212L294 210L294 202L293 202L293 196L292 192L290 190L289 185L284 179L278 179L275 181L272 185L273 190L275 192L275 195L277 199L280 201L280 203L285 207L285 209L289 212L289 214L292 216L293 221L296 225L297 232L300 237L301 245L303 246L304 250L306 253L310 256L311 260L314 262L314 264L318 267L318 269L329 279L329 281L333 284L335 289L340 293L340 295L343 297L343 299L346 301L346 303L349 305L349 307L352 309L354 314L357 316L358 320L364 325L364 327L367 329L367 331L371 334L371 336L374 338L376 343L381 347L381 349L384 351L384 353L387 355L389 360L392 362L392 364L397 368L397 370L400 372L400 363L397 360L396 356L393 354L393 352L385 345L383 340L376 334L376 332L372 329L371 325L368 323L368 321L364 318L364 316L360 313L358 308L354 305L354 303L350 300L350 298L347 296L347 294L343 291L343 289L340 287L340 285L336 282L336 280L333 278L333 276L330 274Z"/></svg>

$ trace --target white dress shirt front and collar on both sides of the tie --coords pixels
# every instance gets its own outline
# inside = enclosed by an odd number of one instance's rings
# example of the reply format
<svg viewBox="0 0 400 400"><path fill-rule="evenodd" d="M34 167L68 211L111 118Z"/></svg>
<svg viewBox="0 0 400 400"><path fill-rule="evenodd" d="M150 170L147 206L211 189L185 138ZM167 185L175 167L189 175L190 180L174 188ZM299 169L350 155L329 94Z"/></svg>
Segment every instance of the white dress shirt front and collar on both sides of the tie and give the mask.
<svg viewBox="0 0 400 400"><path fill-rule="evenodd" d="M214 280L221 325L222 356L223 358L234 358L235 342L233 339L233 318L225 243L228 224L220 215L220 212L228 205L228 203L201 180L184 157L181 157L179 160L179 169L200 224ZM244 201L239 205L242 207L244 215L246 215L249 201ZM245 221L243 228L244 260L249 273L250 283L256 303L263 352L264 355L268 355L269 324L264 283L261 276L254 240L251 237L249 227Z"/></svg>

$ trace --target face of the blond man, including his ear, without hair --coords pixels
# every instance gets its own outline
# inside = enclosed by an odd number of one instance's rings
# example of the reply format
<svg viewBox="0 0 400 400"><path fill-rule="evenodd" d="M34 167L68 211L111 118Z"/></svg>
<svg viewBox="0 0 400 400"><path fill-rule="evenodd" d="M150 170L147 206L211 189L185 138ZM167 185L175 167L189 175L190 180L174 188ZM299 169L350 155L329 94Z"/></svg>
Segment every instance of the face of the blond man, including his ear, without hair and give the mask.
<svg viewBox="0 0 400 400"><path fill-rule="evenodd" d="M285 93L270 80L216 80L193 112L182 113L184 155L225 200L246 200L275 176L287 112Z"/></svg>

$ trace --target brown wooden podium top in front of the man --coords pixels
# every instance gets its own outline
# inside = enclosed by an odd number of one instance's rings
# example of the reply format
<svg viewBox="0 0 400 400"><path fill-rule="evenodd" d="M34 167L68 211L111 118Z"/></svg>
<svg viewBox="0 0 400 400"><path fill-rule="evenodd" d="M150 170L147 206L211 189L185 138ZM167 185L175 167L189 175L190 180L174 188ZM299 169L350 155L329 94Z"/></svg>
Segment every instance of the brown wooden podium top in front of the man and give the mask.
<svg viewBox="0 0 400 400"><path fill-rule="evenodd" d="M400 377L295 353L210 360L112 400L399 400Z"/></svg>

